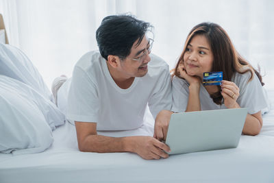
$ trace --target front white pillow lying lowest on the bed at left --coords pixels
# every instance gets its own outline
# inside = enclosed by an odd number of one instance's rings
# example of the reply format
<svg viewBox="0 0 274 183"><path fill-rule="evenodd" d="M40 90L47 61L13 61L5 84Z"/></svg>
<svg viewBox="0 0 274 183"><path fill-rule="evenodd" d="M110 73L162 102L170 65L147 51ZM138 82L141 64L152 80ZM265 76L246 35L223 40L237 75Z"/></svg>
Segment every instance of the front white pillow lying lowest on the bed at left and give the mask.
<svg viewBox="0 0 274 183"><path fill-rule="evenodd" d="M23 83L14 80L10 84L11 81L0 76L0 152L45 151L53 143L53 136L39 103L21 90Z"/></svg>

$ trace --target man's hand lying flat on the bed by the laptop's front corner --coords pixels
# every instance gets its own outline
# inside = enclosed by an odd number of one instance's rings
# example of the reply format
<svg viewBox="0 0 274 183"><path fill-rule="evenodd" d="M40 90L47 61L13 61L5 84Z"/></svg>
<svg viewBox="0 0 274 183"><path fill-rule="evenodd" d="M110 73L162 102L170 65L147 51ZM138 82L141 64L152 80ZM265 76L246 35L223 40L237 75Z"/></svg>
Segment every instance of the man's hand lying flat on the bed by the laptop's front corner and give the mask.
<svg viewBox="0 0 274 183"><path fill-rule="evenodd" d="M132 143L134 143L133 152L145 160L169 158L169 154L166 154L166 152L171 151L169 146L152 136L132 136L129 138L132 138Z"/></svg>

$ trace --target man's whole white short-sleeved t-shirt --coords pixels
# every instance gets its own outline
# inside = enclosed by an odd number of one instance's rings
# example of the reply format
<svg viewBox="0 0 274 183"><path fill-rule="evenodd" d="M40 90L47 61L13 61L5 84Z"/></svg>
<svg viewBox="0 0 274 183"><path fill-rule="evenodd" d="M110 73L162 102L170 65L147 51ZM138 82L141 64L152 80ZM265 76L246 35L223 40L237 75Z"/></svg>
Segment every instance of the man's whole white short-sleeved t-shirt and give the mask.
<svg viewBox="0 0 274 183"><path fill-rule="evenodd" d="M67 119L97 123L97 130L132 130L142 125L147 104L154 118L160 110L171 110L169 66L150 56L148 73L135 77L127 89L116 85L99 51L82 56L71 79Z"/></svg>

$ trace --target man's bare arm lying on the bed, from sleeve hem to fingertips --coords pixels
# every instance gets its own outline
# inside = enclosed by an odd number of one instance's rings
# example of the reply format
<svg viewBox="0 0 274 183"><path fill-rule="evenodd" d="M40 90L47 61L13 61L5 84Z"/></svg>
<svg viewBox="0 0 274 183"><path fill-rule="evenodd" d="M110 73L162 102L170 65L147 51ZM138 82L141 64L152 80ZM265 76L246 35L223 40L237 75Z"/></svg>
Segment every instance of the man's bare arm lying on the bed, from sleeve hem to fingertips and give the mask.
<svg viewBox="0 0 274 183"><path fill-rule="evenodd" d="M88 152L134 152L142 158L168 158L171 149L152 136L111 137L97 134L97 123L75 121L80 151ZM166 152L164 152L166 151Z"/></svg>

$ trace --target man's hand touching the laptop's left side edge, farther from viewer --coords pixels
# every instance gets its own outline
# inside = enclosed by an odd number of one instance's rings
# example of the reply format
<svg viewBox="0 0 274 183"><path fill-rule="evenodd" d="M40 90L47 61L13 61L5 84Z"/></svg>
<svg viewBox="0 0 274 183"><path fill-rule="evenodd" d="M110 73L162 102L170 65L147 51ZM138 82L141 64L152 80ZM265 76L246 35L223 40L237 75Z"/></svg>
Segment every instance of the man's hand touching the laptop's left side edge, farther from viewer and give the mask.
<svg viewBox="0 0 274 183"><path fill-rule="evenodd" d="M157 138L159 141L166 141L166 134L169 129L171 114L173 114L173 112L170 110L161 110L155 119L153 137Z"/></svg>

